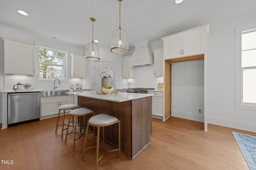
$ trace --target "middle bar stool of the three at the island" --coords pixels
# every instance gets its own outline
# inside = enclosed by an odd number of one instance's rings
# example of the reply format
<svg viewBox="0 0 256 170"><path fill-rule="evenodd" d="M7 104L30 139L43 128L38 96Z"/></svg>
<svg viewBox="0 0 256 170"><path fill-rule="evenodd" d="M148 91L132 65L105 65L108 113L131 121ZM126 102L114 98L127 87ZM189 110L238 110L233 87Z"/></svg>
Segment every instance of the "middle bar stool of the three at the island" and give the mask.
<svg viewBox="0 0 256 170"><path fill-rule="evenodd" d="M79 116L85 116L85 115L89 115L89 114L93 114L95 115L95 112L92 111L91 109L87 109L87 108L84 108L84 107L80 107L78 109L73 109L72 111L70 111L69 113L69 119L68 119L68 122L70 122L70 118L71 116L73 116L73 119L75 121L75 125L74 125L74 132L72 132L74 134L74 137L73 137L73 151L75 150L75 141L77 140L76 139L76 133L79 133L80 134L80 137L82 135L82 133L80 132L81 131L81 124L79 123L79 127L80 127L80 131L79 132L76 132L76 124L77 124L77 118ZM84 126L85 126L85 117L84 117ZM70 127L70 126L68 126ZM67 137L68 137L68 134L71 134L71 133L68 133L68 127L67 127L67 131L66 131L66 138L65 138L65 143L67 141ZM84 133L85 133L85 128L83 127L84 129ZM86 129L86 133L88 133L88 128ZM94 133L94 132L93 132ZM78 139L80 138L78 137Z"/></svg>

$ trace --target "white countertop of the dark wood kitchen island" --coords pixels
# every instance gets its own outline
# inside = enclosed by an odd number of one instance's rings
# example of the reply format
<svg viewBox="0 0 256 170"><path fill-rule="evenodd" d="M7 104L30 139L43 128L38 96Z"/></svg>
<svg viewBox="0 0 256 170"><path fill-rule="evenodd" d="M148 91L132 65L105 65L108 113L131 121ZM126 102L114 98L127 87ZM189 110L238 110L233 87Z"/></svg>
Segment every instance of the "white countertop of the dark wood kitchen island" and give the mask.
<svg viewBox="0 0 256 170"><path fill-rule="evenodd" d="M87 97L87 98L100 99L100 100L108 100L108 101L112 101L112 102L125 102L128 100L134 100L134 99L154 96L154 94L126 93L126 92L118 92L118 94L104 95L104 94L96 94L96 91L66 92L66 94L73 94L73 95L78 95L78 96Z"/></svg>

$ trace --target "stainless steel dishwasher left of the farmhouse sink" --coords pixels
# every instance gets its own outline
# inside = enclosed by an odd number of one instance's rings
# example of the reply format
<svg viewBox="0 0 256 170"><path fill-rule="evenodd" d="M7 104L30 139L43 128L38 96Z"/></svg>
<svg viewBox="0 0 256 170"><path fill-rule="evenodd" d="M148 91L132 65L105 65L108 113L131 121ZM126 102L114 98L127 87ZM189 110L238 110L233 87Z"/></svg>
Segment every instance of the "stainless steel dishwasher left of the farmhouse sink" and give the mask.
<svg viewBox="0 0 256 170"><path fill-rule="evenodd" d="M40 92L8 93L8 125L40 118Z"/></svg>

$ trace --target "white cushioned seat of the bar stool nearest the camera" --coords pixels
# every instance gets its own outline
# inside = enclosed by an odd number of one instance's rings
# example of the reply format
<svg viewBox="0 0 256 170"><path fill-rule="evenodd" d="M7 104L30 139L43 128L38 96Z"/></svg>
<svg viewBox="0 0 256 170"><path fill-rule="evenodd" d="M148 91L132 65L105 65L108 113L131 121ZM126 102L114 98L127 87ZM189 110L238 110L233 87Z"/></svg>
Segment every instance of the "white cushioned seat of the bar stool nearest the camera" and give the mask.
<svg viewBox="0 0 256 170"><path fill-rule="evenodd" d="M92 116L88 121L94 125L105 125L114 121L118 121L118 119L116 117L102 113Z"/></svg>

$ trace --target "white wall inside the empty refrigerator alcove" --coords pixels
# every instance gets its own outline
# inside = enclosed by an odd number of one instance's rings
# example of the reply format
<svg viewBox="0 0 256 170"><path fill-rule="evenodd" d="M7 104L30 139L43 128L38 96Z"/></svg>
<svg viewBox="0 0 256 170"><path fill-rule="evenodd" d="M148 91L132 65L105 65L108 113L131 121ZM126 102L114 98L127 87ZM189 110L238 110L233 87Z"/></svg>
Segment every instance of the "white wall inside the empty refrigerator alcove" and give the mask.
<svg viewBox="0 0 256 170"><path fill-rule="evenodd" d="M171 77L171 115L204 121L204 60L173 63Z"/></svg>

